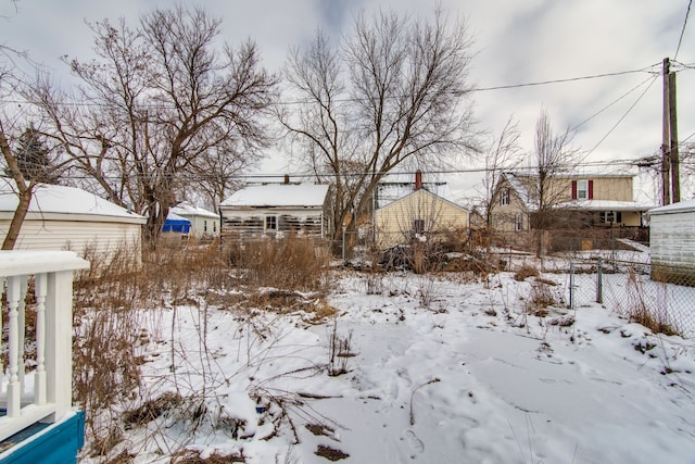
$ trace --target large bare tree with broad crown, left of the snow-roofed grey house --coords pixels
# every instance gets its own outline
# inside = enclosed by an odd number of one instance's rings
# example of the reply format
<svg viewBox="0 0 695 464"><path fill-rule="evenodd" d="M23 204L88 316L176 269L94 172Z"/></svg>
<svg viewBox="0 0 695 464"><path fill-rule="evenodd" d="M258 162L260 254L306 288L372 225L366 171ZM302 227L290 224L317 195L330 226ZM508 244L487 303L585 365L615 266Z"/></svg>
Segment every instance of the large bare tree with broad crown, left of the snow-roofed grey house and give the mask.
<svg viewBox="0 0 695 464"><path fill-rule="evenodd" d="M50 85L35 95L74 166L112 201L147 215L150 238L197 181L222 181L224 196L228 177L203 176L211 156L237 172L267 142L261 116L276 79L254 43L217 43L219 26L184 7L144 14L137 29L125 20L97 23L97 59L68 63L85 104L63 104Z"/></svg>

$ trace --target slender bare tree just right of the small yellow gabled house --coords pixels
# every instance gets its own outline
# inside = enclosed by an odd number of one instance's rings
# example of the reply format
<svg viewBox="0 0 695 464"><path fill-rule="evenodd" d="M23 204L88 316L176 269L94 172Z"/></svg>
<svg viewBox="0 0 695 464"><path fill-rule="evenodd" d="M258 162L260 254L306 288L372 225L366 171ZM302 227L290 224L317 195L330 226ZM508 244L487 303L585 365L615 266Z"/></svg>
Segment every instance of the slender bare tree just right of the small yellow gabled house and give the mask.
<svg viewBox="0 0 695 464"><path fill-rule="evenodd" d="M482 179L484 199L482 210L485 214L488 229L493 227L492 217L495 206L500 204L500 181L505 171L514 170L520 162L518 124L509 116L500 136L494 138L485 152L485 174Z"/></svg>

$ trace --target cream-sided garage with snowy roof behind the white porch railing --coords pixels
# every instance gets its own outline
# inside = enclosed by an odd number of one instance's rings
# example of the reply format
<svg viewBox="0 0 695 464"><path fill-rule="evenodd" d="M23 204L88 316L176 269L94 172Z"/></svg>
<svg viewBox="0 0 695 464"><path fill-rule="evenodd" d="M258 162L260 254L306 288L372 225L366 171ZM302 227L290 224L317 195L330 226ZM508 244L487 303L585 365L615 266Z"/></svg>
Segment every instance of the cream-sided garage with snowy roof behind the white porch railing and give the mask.
<svg viewBox="0 0 695 464"><path fill-rule="evenodd" d="M0 237L4 238L18 204L17 195L0 184ZM22 224L16 250L86 250L104 256L121 248L139 259L147 218L86 190L37 186Z"/></svg>

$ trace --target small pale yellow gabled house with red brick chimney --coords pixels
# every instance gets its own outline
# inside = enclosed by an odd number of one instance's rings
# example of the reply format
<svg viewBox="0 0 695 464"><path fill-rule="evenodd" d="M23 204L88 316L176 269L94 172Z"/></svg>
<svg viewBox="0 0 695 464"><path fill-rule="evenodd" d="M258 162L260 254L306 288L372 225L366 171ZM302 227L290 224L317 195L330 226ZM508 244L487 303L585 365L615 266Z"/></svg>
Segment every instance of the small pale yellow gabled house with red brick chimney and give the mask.
<svg viewBox="0 0 695 464"><path fill-rule="evenodd" d="M376 240L381 248L412 240L437 239L447 231L469 227L464 208L424 188L416 180L415 191L375 212Z"/></svg>

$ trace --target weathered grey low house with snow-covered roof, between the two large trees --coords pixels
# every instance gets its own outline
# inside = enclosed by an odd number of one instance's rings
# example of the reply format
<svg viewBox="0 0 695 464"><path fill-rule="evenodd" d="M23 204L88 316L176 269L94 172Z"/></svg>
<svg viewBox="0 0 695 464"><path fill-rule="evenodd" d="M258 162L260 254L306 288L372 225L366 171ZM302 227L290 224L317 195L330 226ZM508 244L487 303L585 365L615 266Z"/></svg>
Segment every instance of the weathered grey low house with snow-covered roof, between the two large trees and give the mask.
<svg viewBox="0 0 695 464"><path fill-rule="evenodd" d="M247 186L220 203L222 233L241 239L324 238L330 233L328 192L329 186L316 184Z"/></svg>

